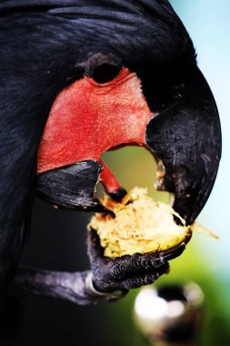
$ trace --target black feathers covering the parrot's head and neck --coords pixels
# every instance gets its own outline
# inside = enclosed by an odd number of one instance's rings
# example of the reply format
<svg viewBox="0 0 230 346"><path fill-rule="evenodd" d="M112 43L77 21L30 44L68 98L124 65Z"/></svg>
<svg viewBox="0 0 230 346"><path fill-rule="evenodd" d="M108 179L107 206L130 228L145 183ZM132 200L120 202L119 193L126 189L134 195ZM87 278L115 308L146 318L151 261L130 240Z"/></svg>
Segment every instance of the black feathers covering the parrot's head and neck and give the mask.
<svg viewBox="0 0 230 346"><path fill-rule="evenodd" d="M98 53L118 56L140 77L148 106L157 113L183 97L197 68L193 43L166 0L1 2L1 287L14 272L29 227L36 152L49 111ZM220 136L218 121L215 127Z"/></svg>

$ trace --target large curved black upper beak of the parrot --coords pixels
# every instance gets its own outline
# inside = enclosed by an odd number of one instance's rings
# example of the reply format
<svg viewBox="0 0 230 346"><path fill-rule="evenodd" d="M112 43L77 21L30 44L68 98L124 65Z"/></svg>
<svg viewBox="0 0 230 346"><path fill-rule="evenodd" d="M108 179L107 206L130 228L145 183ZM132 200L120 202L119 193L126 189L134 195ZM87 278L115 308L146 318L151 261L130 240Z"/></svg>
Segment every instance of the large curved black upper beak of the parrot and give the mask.
<svg viewBox="0 0 230 346"><path fill-rule="evenodd" d="M147 146L165 166L162 186L175 194L175 211L192 224L213 188L221 158L215 99L198 67L184 95L150 120L145 136Z"/></svg>

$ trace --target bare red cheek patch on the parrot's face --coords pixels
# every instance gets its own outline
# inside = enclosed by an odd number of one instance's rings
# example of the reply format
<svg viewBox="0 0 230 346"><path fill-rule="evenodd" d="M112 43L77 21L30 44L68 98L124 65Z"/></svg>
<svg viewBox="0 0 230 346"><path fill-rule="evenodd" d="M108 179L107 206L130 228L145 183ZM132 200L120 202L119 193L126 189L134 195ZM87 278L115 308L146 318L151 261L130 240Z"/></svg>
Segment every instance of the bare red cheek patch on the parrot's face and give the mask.
<svg viewBox="0 0 230 346"><path fill-rule="evenodd" d="M119 145L144 144L151 117L140 80L126 68L104 85L85 76L56 97L38 150L37 172L99 161Z"/></svg>

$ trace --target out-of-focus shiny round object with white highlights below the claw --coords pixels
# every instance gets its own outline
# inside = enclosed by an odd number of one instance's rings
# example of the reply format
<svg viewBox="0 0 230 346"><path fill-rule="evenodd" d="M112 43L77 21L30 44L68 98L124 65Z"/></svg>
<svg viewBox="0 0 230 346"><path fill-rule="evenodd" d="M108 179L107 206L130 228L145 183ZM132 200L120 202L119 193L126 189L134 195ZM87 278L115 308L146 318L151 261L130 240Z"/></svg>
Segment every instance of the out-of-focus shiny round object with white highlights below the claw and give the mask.
<svg viewBox="0 0 230 346"><path fill-rule="evenodd" d="M135 298L135 324L155 346L191 346L203 326L204 293L191 282L140 290Z"/></svg>

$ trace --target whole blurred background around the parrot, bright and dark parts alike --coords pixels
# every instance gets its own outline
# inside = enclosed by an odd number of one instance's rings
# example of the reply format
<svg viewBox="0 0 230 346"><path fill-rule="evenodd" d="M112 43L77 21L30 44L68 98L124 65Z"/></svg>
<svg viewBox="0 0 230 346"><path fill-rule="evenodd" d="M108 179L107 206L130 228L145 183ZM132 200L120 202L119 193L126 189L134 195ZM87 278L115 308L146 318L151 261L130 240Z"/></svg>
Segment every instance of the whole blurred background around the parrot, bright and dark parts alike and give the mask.
<svg viewBox="0 0 230 346"><path fill-rule="evenodd" d="M230 343L230 237L228 196L230 188L230 2L229 0L171 0L185 24L197 51L198 65L211 86L223 128L223 158L215 188L198 221L219 236L219 240L194 234L185 253L171 262L169 275L155 286L195 281L205 292L205 324L195 345ZM142 148L125 148L105 154L105 162L126 188L147 187L155 199L168 195L155 192L155 164ZM85 270L88 215L57 211L36 200L30 239L23 264L50 270ZM138 290L117 303L100 302L80 307L61 300L31 297L19 302L21 314L15 332L15 346L145 346L135 329L134 300ZM11 330L13 334L13 328ZM2 345L2 343L1 343ZM8 343L7 343L8 345Z"/></svg>

